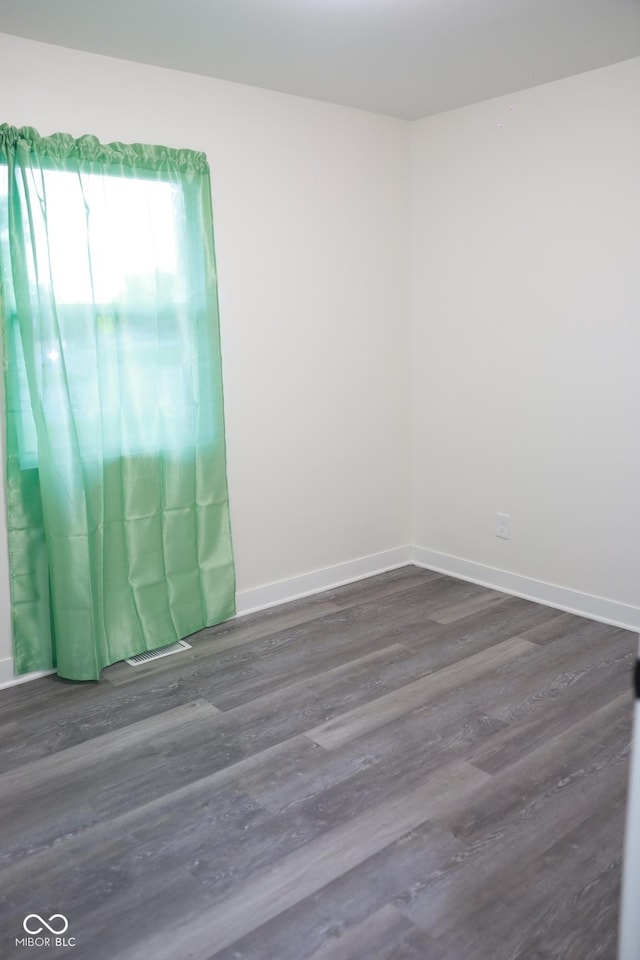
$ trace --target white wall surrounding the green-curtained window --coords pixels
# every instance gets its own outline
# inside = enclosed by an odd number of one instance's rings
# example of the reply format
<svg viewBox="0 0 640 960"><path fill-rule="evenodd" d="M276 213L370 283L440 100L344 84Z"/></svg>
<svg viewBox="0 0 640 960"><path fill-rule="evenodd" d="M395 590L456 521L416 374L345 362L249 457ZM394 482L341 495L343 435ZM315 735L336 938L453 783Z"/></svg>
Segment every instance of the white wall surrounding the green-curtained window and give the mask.
<svg viewBox="0 0 640 960"><path fill-rule="evenodd" d="M0 89L0 122L209 158L239 590L404 547L408 125L2 35Z"/></svg>

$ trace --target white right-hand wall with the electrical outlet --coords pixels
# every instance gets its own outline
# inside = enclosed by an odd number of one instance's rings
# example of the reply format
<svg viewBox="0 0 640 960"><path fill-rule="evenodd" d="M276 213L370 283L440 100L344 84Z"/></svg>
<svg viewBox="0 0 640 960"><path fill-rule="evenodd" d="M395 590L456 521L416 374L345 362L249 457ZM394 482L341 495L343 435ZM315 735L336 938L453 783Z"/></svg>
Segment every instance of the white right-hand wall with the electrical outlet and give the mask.
<svg viewBox="0 0 640 960"><path fill-rule="evenodd" d="M639 104L633 60L412 128L413 542L636 613Z"/></svg>

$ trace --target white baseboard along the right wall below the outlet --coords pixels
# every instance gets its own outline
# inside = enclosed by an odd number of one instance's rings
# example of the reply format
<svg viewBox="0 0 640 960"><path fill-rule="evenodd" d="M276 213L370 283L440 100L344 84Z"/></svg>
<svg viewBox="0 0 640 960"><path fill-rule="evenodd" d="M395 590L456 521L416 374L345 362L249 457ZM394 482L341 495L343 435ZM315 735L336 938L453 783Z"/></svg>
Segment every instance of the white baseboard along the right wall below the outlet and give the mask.
<svg viewBox="0 0 640 960"><path fill-rule="evenodd" d="M413 547L410 562L418 567L426 567L438 573L448 573L460 580L469 580L483 587L500 590L502 593L533 600L547 607L575 613L589 620L599 620L626 630L640 631L640 607L634 607L628 603L607 600L605 597L582 593L568 587L559 587L553 583L509 573L507 570L499 570L497 567L489 567L483 563L438 553L427 547Z"/></svg>

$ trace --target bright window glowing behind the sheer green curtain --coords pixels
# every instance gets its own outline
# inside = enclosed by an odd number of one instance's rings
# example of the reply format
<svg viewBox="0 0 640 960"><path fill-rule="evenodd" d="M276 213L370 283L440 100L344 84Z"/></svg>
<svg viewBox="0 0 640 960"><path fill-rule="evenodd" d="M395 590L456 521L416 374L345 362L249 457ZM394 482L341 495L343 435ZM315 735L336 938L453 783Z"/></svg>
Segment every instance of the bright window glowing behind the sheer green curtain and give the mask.
<svg viewBox="0 0 640 960"><path fill-rule="evenodd" d="M56 339L35 333L48 419L64 419L59 378L54 375L64 363L72 403L84 411L79 428L86 431L85 449L99 439L107 456L193 446L189 364L197 363L198 349L188 317L181 186L170 180L133 181L97 174L78 178L66 171L44 170L33 188L46 202L47 215L46 225L39 218L30 225L37 255L27 261L29 282L41 309L53 309L47 284L38 289L35 267L48 260L47 283L59 333L70 347L63 360ZM0 204L6 203L3 166ZM27 398L15 305L12 316L12 361L21 396ZM89 344L87 324L95 328ZM110 419L120 420L113 437L108 435ZM19 425L21 463L35 466L36 429L29 403L22 405Z"/></svg>

